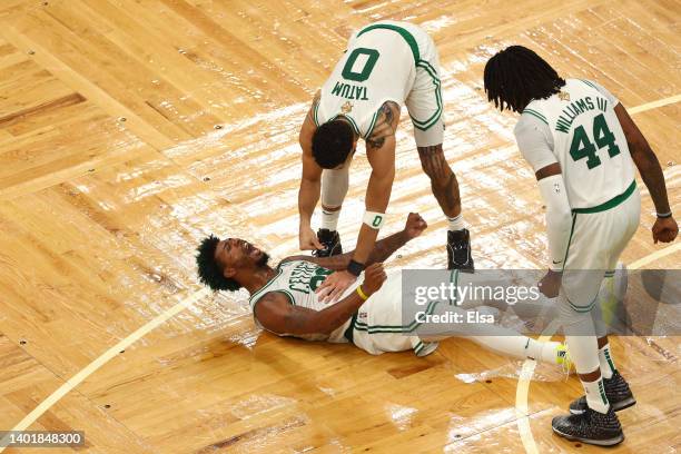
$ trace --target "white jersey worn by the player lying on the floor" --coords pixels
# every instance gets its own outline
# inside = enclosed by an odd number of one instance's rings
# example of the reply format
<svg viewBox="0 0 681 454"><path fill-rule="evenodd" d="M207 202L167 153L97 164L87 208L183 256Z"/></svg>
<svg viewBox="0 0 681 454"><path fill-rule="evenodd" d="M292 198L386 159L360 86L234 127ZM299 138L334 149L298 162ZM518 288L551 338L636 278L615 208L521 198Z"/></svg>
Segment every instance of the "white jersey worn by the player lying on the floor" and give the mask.
<svg viewBox="0 0 681 454"><path fill-rule="evenodd" d="M307 307L313 310L323 310L329 306L328 303L322 303L317 298L317 294L315 290L322 285L326 276L334 273L328 268L324 268L317 264L313 264L307 260L292 260L280 264L277 267L277 275L273 277L263 288L258 292L254 293L250 296L248 303L250 304L250 308L254 310L255 316L255 305L258 300L270 292L279 292L285 294L290 304L300 307ZM361 275L357 278L356 284L362 284L364 280L364 275ZM351 286L347 290L345 290L337 300L345 298L348 294L355 292L356 286ZM256 324L261 327L256 318ZM308 336L299 336L295 337L305 338L308 340L328 340L328 342L347 342L343 336L345 329L349 325L351 320L347 320L343 326L338 327L334 330L329 336L326 335L308 335Z"/></svg>

